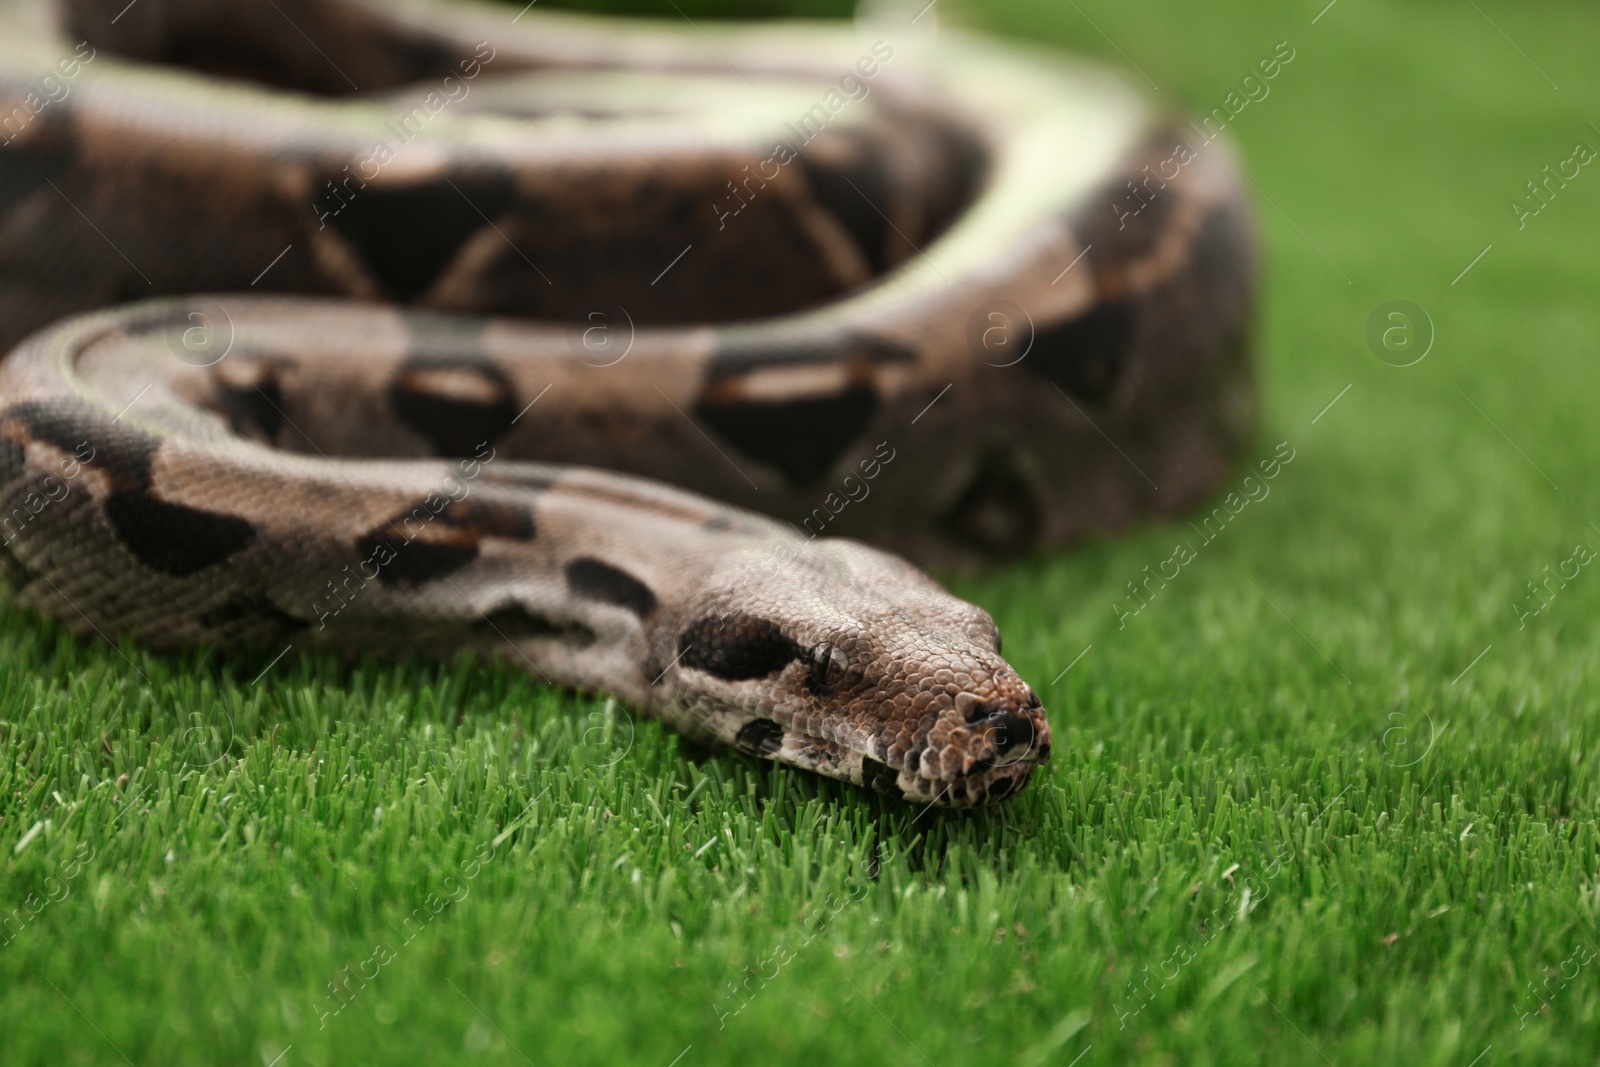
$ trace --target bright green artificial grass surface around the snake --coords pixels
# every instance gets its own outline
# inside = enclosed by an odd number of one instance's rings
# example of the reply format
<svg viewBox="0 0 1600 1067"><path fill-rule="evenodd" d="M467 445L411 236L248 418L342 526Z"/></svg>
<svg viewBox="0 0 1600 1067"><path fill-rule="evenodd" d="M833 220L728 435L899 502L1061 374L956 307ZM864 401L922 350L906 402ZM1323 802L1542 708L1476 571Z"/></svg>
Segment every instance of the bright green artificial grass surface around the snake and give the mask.
<svg viewBox="0 0 1600 1067"><path fill-rule="evenodd" d="M938 8L1195 110L1296 50L1230 125L1251 459L1293 462L1210 544L952 577L1051 709L1026 795L918 813L510 667L5 609L0 1062L1595 1062L1600 569L1526 584L1600 547L1600 171L1510 202L1600 147L1600 16L1323 3ZM1414 366L1365 339L1394 299Z"/></svg>

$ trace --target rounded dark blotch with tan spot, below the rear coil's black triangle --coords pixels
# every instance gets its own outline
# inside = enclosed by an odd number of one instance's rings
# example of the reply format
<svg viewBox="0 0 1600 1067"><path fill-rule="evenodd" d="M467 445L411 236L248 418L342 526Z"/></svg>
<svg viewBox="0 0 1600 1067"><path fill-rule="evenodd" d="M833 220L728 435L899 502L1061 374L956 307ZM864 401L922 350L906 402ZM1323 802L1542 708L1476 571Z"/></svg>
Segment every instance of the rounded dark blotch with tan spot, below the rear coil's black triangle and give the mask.
<svg viewBox="0 0 1600 1067"><path fill-rule="evenodd" d="M472 456L510 430L517 397L493 363L416 355L389 386L389 406L440 456Z"/></svg>

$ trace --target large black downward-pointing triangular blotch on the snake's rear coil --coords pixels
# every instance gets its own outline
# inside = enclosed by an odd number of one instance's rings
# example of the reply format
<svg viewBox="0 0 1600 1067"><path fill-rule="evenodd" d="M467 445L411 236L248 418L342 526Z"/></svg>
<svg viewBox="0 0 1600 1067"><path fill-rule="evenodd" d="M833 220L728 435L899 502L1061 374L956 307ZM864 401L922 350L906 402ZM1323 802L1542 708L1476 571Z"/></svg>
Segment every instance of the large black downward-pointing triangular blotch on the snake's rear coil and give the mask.
<svg viewBox="0 0 1600 1067"><path fill-rule="evenodd" d="M338 181L342 173L331 178ZM317 182L317 189L323 184ZM458 174L398 189L355 190L330 221L384 291L405 304L445 274L467 238L488 226L485 216L493 219L510 202L506 174Z"/></svg>

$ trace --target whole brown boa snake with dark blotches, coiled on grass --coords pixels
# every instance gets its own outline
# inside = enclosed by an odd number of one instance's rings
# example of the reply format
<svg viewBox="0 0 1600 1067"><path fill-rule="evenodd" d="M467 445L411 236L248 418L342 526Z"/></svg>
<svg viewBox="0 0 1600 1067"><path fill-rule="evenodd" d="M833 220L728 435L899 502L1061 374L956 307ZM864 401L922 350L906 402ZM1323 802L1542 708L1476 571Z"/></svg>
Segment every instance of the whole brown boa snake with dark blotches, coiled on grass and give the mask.
<svg viewBox="0 0 1600 1067"><path fill-rule="evenodd" d="M11 603L480 649L910 801L1016 793L1040 699L906 558L1211 491L1251 224L1226 144L1117 78L878 29L3 0Z"/></svg>

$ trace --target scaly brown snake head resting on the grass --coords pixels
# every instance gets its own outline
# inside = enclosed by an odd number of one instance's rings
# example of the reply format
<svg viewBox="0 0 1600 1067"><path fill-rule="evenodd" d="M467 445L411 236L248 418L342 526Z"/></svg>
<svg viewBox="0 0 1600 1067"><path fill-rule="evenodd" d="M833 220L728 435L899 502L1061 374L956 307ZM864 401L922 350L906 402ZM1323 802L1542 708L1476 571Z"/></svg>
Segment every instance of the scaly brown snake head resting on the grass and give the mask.
<svg viewBox="0 0 1600 1067"><path fill-rule="evenodd" d="M1027 785L1050 723L989 614L875 549L802 549L773 574L731 553L674 613L674 643L658 632L653 649L674 659L662 715L912 803L978 806Z"/></svg>

